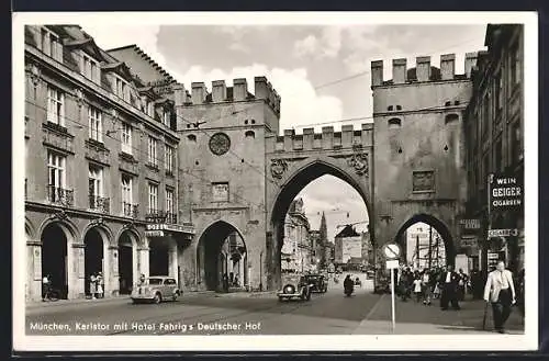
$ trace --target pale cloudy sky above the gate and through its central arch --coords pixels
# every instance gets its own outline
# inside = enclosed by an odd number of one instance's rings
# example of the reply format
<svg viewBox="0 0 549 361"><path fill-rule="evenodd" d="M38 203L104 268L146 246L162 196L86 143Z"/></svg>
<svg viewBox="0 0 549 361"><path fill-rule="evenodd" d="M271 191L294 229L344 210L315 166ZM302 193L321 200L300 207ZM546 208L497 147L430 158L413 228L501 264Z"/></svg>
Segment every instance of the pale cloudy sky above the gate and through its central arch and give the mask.
<svg viewBox="0 0 549 361"><path fill-rule="evenodd" d="M281 95L280 133L303 127L372 122L370 61L384 60L391 79L391 60L456 54L456 72L463 74L464 54L484 49L484 24L406 25L156 25L81 22L82 29L104 48L136 44L187 89L194 81L266 76ZM356 120L358 119L358 120ZM346 121L355 120L355 121ZM323 124L318 124L323 123ZM328 124L333 123L333 124ZM315 125L316 124L316 125ZM327 190L337 189L337 192ZM298 195L313 228L326 212L328 239L337 225L368 219L360 195L347 183L325 176ZM344 200L344 201L341 201ZM343 211L343 212L341 212ZM346 212L349 212L347 218ZM363 229L366 224L357 228Z"/></svg>

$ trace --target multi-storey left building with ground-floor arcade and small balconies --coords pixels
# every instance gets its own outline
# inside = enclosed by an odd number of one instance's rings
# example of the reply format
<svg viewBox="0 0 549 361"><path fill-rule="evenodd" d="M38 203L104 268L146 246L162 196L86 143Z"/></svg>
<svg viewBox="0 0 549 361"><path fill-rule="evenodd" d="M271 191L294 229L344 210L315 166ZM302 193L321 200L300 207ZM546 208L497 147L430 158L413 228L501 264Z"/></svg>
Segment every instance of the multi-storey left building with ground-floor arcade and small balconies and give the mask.
<svg viewBox="0 0 549 361"><path fill-rule="evenodd" d="M24 58L26 298L45 275L64 298L94 273L105 296L142 273L179 282L193 228L176 211L172 99L77 25L25 26Z"/></svg>

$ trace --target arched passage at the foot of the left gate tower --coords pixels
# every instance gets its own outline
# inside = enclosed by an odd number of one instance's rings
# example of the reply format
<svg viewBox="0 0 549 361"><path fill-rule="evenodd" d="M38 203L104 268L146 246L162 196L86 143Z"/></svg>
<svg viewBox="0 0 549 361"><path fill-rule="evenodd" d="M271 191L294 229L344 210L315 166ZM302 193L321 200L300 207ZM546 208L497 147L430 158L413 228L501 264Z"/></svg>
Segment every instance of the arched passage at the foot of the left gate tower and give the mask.
<svg viewBox="0 0 549 361"><path fill-rule="evenodd" d="M235 226L217 221L199 238L197 277L200 289L222 291L225 274L229 286L244 287L248 283L246 244Z"/></svg>

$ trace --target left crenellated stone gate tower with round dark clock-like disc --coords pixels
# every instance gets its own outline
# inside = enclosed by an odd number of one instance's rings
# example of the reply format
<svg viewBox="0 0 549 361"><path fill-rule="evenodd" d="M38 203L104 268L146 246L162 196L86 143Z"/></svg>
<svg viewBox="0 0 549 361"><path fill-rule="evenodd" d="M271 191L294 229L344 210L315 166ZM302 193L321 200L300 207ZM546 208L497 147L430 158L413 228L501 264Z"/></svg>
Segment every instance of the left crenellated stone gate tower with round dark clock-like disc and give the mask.
<svg viewBox="0 0 549 361"><path fill-rule="evenodd" d="M265 77L213 81L211 92L193 82L191 92L176 90L179 145L179 217L197 229L179 262L184 282L199 290L216 289L225 272L219 259L224 239L240 236L245 245L240 280L266 284L266 135L278 134L280 97ZM228 267L231 271L231 267Z"/></svg>

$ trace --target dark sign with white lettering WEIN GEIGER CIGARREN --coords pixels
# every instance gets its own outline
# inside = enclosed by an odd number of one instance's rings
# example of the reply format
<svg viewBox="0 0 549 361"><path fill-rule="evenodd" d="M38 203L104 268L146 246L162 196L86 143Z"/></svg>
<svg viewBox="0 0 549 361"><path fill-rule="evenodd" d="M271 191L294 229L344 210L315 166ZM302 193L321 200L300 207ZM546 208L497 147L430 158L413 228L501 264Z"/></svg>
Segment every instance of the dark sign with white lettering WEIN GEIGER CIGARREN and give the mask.
<svg viewBox="0 0 549 361"><path fill-rule="evenodd" d="M489 179L490 211L516 211L523 206L524 187L516 176L491 174Z"/></svg>

